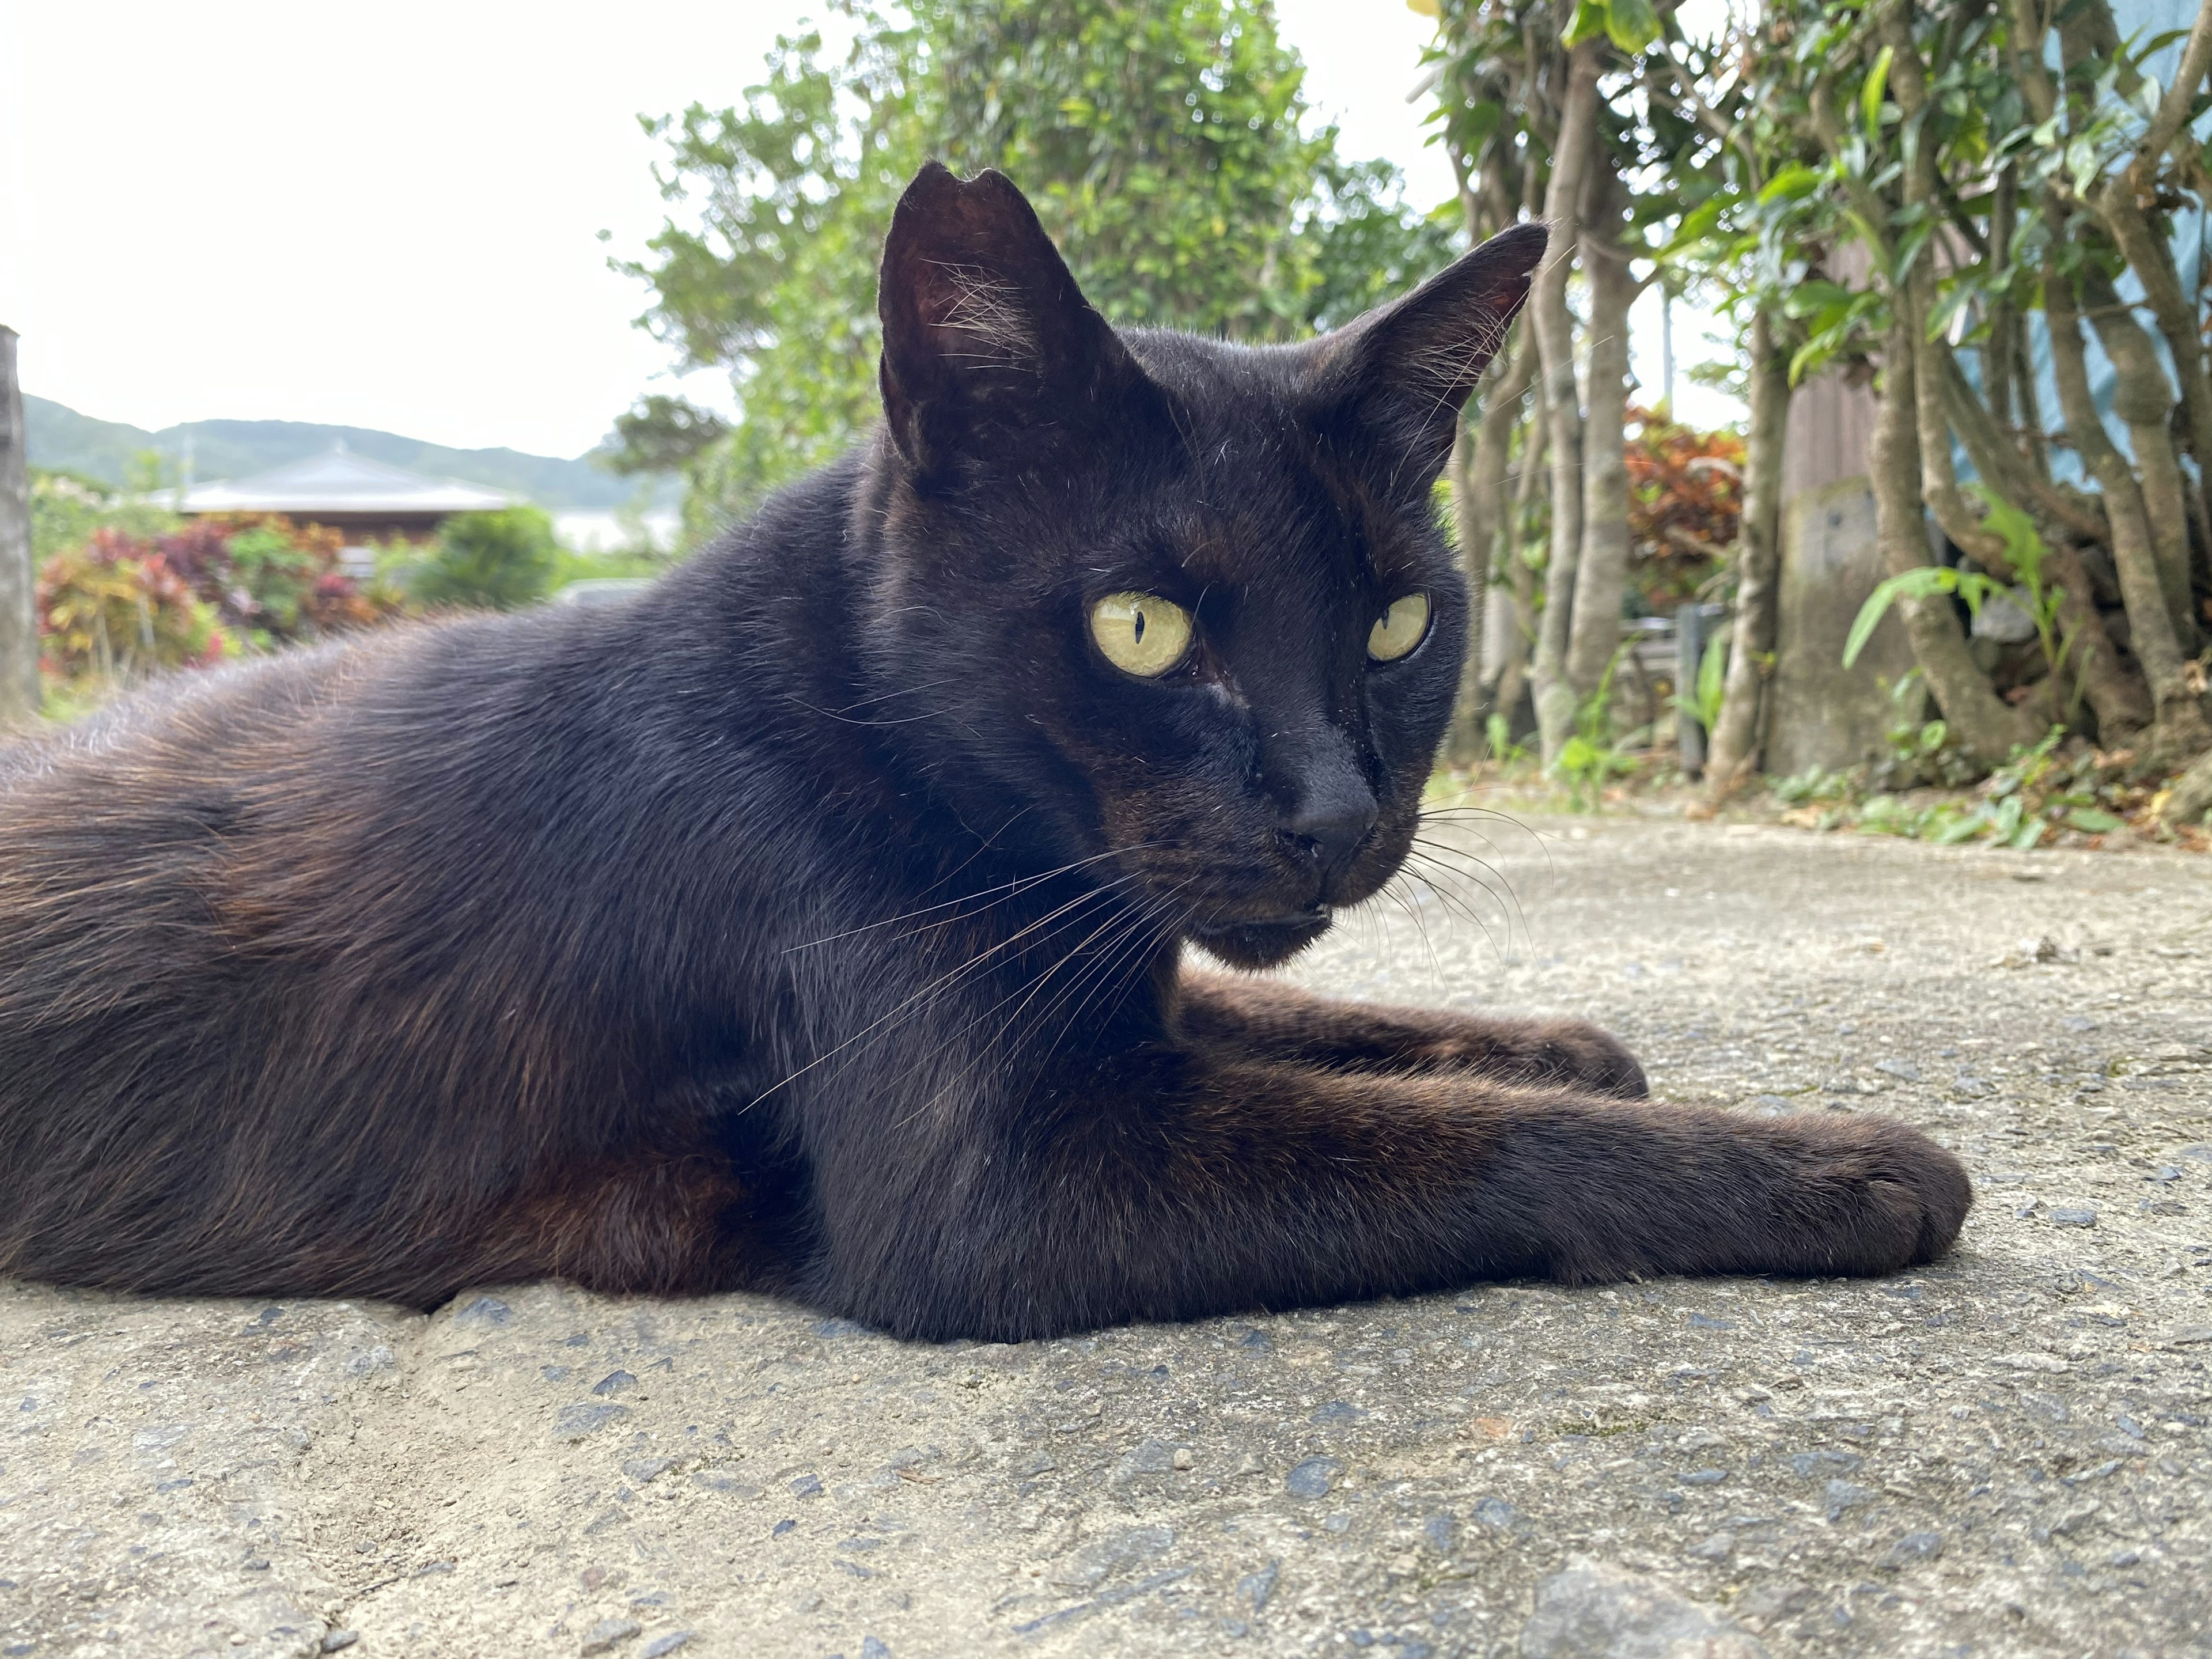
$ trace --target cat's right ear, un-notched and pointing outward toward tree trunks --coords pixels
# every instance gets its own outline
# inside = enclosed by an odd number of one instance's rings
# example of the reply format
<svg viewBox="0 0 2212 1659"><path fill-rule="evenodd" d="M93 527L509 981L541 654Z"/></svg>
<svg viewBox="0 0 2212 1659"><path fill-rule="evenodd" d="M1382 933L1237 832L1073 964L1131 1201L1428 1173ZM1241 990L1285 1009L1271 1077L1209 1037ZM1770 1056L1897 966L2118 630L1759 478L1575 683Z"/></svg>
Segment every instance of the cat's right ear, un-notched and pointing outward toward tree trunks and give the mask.
<svg viewBox="0 0 2212 1659"><path fill-rule="evenodd" d="M1460 409L1528 299L1551 230L1513 226L1318 343L1321 420L1396 500L1427 495Z"/></svg>

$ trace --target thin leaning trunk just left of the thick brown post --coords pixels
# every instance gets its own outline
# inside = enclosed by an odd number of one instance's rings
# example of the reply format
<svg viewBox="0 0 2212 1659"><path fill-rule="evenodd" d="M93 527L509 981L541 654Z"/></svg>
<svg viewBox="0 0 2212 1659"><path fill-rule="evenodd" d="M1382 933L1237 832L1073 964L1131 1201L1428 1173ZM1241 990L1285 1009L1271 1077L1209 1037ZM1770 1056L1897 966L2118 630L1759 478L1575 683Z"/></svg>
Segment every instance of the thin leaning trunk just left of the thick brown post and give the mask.
<svg viewBox="0 0 2212 1659"><path fill-rule="evenodd" d="M1752 429L1743 456L1743 520L1736 531L1736 630L1728 653L1721 719L1705 754L1714 805L1759 770L1765 690L1774 659L1781 584L1783 438L1790 434L1790 354L1774 345L1767 314L1752 319Z"/></svg>

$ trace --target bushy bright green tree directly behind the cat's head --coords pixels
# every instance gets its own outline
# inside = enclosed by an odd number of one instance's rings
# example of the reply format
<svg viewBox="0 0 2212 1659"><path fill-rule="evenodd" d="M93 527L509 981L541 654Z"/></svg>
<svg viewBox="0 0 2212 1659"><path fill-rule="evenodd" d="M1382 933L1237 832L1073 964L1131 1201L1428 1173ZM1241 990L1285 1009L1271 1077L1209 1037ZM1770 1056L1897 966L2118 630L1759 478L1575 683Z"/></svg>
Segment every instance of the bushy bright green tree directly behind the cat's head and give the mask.
<svg viewBox="0 0 2212 1659"><path fill-rule="evenodd" d="M624 427L626 465L688 456L692 535L874 418L876 257L929 157L1009 173L1117 323L1296 338L1451 257L1394 168L1303 131L1265 0L832 2L858 24L843 60L783 38L741 106L646 124L686 221L624 265L639 321L741 405L728 431L666 398Z"/></svg>

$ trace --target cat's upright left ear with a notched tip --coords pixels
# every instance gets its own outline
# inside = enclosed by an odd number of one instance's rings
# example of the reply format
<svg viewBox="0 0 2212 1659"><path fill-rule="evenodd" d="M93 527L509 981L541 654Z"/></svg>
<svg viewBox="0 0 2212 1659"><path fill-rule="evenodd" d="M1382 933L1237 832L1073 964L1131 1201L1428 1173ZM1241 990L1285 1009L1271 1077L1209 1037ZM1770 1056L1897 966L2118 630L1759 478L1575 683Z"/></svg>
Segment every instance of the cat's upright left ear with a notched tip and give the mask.
<svg viewBox="0 0 2212 1659"><path fill-rule="evenodd" d="M931 161L914 177L883 243L876 310L883 414L918 478L982 440L1002 453L1086 425L1144 380L1004 173L960 179Z"/></svg>

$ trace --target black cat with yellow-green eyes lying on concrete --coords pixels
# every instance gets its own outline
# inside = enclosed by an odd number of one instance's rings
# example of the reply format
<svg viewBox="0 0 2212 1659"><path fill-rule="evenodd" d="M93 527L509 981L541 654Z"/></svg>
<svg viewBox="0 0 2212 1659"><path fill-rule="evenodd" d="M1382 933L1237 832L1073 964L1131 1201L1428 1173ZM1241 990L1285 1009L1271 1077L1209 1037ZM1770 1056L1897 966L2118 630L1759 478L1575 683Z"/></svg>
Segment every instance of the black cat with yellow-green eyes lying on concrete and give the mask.
<svg viewBox="0 0 2212 1659"><path fill-rule="evenodd" d="M1407 854L1467 611L1429 489L1544 241L1243 349L1117 334L931 166L883 427L635 602L11 752L0 1272L1022 1338L1944 1250L1966 1177L1900 1124L1181 962L1283 962Z"/></svg>

